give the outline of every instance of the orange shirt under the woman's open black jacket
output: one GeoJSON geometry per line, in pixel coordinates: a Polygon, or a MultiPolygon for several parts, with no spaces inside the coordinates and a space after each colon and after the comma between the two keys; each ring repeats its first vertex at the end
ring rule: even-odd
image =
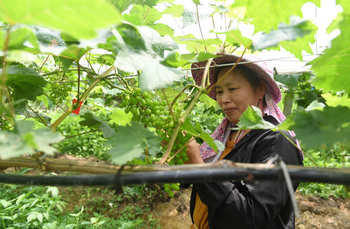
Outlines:
{"type": "MultiPolygon", "coordinates": [[[[230,137],[228,139],[231,139],[230,137]]],[[[220,160],[222,160],[234,147],[235,142],[227,140],[227,144],[225,147],[224,152],[222,153],[220,160]]],[[[194,212],[193,212],[193,221],[194,225],[192,224],[190,229],[209,229],[209,221],[208,221],[208,207],[204,203],[202,203],[200,197],[196,196],[196,201],[195,201],[195,207],[194,207],[194,212]]]]}

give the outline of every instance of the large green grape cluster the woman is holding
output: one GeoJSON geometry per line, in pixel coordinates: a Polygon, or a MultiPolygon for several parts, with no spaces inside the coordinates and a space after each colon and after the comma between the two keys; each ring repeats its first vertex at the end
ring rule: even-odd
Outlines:
{"type": "MultiPolygon", "coordinates": [[[[156,128],[156,133],[160,136],[166,144],[174,133],[175,124],[181,115],[182,108],[178,102],[174,103],[171,110],[166,100],[154,99],[151,92],[141,92],[140,88],[124,90],[122,95],[123,102],[120,103],[120,108],[125,108],[125,113],[132,113],[132,121],[140,121],[146,126],[156,128]]],[[[192,138],[192,135],[178,133],[175,144],[172,148],[171,158],[169,164],[184,164],[188,161],[187,145],[186,143],[192,138]]]]}

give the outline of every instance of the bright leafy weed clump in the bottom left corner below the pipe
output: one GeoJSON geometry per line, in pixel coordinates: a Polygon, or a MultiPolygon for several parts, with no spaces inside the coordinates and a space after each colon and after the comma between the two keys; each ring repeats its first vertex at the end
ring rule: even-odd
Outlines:
{"type": "Polygon", "coordinates": [[[17,185],[0,186],[0,217],[3,228],[62,228],[73,219],[62,216],[67,203],[61,200],[56,187],[24,188],[17,193],[17,185]],[[45,192],[46,190],[46,192],[45,192]]]}

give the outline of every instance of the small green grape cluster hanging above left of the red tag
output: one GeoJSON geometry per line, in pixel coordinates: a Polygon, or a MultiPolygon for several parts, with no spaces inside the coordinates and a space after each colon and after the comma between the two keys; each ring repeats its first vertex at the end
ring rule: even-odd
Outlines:
{"type": "Polygon", "coordinates": [[[70,92],[73,87],[73,82],[65,82],[67,81],[67,78],[60,78],[54,75],[50,75],[48,77],[48,80],[49,82],[55,82],[49,84],[49,99],[53,102],[53,105],[56,105],[57,103],[62,103],[70,95],[70,92]]]}

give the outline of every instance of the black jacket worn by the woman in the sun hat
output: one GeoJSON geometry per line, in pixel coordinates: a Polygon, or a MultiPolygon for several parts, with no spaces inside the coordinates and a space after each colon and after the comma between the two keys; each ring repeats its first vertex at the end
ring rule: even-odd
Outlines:
{"type": "MultiPolygon", "coordinates": [[[[273,116],[266,121],[277,125],[273,116]]],[[[289,136],[286,131],[284,133],[289,136]]],[[[249,131],[224,158],[240,163],[265,163],[280,155],[286,164],[302,164],[302,156],[280,131],[249,131]]],[[[298,183],[294,182],[297,190],[298,183]]],[[[195,183],[190,212],[193,221],[195,196],[208,206],[210,229],[294,229],[295,216],[285,182],[253,180],[195,183]]]]}

